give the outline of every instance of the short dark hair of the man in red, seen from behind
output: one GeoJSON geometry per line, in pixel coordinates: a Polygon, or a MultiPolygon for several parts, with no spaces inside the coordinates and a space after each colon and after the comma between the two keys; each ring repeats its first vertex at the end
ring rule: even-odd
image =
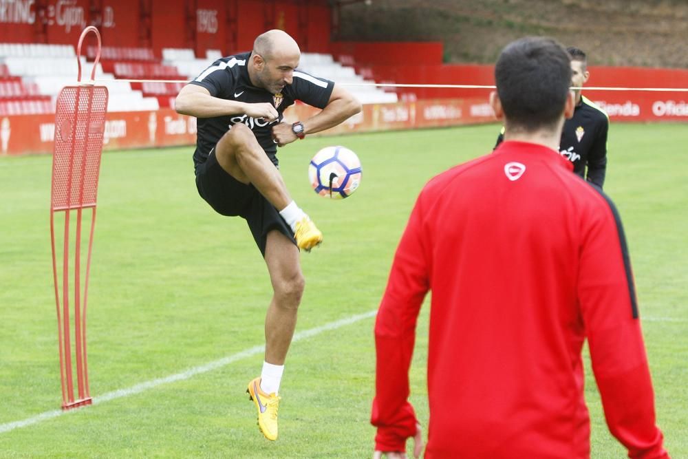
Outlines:
{"type": "Polygon", "coordinates": [[[509,127],[555,127],[571,85],[571,59],[553,39],[519,39],[499,54],[495,81],[509,127]]]}

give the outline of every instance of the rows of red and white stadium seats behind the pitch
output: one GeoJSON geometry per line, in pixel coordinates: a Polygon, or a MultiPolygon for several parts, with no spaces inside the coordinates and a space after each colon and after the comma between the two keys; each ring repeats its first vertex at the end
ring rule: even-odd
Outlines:
{"type": "MultiPolygon", "coordinates": [[[[110,111],[154,110],[173,107],[174,98],[185,83],[155,82],[129,83],[107,81],[115,78],[132,80],[177,80],[195,78],[206,67],[223,56],[220,50],[206,50],[204,58],[186,48],[164,48],[162,59],[156,58],[147,47],[105,46],[101,49],[96,67],[99,85],[110,93],[110,111]],[[107,73],[106,73],[107,72],[107,73]]],[[[76,84],[77,65],[72,45],[43,43],[0,43],[0,101],[4,114],[39,114],[54,112],[54,100],[67,85],[76,84]]],[[[81,58],[82,78],[90,77],[96,47],[87,46],[81,58]]],[[[353,59],[351,59],[353,61],[353,59]]],[[[361,103],[396,102],[395,92],[385,92],[374,86],[370,75],[356,74],[353,62],[336,62],[331,54],[301,54],[299,70],[346,84],[361,103]]]]}

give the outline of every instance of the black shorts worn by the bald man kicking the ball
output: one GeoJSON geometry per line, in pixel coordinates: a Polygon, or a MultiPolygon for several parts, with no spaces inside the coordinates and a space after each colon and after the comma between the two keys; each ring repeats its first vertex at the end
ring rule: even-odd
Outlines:
{"type": "Polygon", "coordinates": [[[201,198],[220,215],[243,217],[248,223],[258,248],[265,257],[268,232],[277,230],[296,244],[294,233],[266,198],[252,184],[233,178],[211,150],[206,162],[196,165],[196,188],[201,198]]]}

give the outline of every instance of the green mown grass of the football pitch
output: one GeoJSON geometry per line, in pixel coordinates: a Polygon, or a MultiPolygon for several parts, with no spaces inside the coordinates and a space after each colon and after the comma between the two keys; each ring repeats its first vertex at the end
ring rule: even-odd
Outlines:
{"type": "MultiPolygon", "coordinates": [[[[325,242],[301,255],[306,291],[297,332],[312,333],[290,349],[277,442],[259,433],[244,394],[262,362],[255,347],[264,342],[267,270],[244,222],[216,215],[198,197],[193,149],[104,154],[88,303],[89,379],[98,403],[57,416],[52,158],[0,157],[0,456],[369,457],[371,313],[401,231],[422,185],[490,151],[498,131],[308,138],[281,150],[290,191],[325,242]],[[352,198],[330,201],[310,189],[307,164],[321,147],[338,144],[358,153],[363,181],[352,198]],[[215,369],[189,372],[224,358],[215,369]],[[182,377],[158,381],[175,374],[182,377]],[[131,389],[150,381],[158,383],[131,389]],[[31,425],[10,424],[39,415],[31,425]]],[[[612,123],[605,184],[625,225],[658,423],[674,458],[688,457],[686,145],[686,125],[612,123]]],[[[411,368],[411,401],[424,425],[427,313],[426,305],[411,368]]],[[[592,456],[625,457],[607,431],[589,371],[586,377],[592,456]]]]}

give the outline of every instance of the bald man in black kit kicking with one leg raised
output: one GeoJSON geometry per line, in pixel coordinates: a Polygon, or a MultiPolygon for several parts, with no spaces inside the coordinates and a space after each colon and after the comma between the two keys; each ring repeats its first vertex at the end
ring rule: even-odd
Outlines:
{"type": "Polygon", "coordinates": [[[248,392],[269,440],[277,439],[279,384],[303,293],[299,248],[310,250],[323,239],[290,198],[277,169],[277,147],[361,111],[358,100],[332,81],[296,70],[300,57],[291,36],[270,30],[251,52],[215,61],[175,101],[179,113],[198,118],[198,193],[217,213],[246,220],[268,266],[274,295],[265,321],[265,362],[248,392]],[[323,110],[293,125],[282,122],[296,100],[323,110]]]}

